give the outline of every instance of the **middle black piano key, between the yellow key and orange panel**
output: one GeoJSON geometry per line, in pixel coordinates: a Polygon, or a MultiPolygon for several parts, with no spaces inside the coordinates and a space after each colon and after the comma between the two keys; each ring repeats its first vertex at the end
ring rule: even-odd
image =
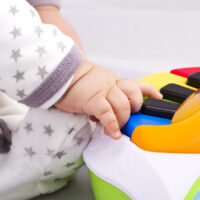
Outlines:
{"type": "Polygon", "coordinates": [[[195,92],[190,88],[186,88],[174,83],[170,83],[160,89],[163,99],[182,103],[188,96],[195,92]]]}

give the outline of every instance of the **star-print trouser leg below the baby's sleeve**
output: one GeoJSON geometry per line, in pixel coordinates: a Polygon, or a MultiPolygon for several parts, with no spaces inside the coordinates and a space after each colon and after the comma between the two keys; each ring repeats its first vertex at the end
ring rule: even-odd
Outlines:
{"type": "Polygon", "coordinates": [[[28,109],[0,92],[0,119],[12,132],[10,151],[0,154],[0,200],[54,192],[82,165],[92,133],[87,115],[28,109]]]}

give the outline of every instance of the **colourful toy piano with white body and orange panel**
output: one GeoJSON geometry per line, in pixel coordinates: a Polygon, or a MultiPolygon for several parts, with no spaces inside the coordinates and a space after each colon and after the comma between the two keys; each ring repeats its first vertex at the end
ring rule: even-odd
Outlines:
{"type": "Polygon", "coordinates": [[[146,99],[113,140],[101,126],[84,152],[96,200],[200,200],[200,67],[140,81],[163,99],[146,99]]]}

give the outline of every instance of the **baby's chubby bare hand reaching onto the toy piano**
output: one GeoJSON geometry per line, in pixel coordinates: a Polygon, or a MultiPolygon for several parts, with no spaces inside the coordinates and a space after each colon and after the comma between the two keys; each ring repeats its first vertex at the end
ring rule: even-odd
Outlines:
{"type": "Polygon", "coordinates": [[[76,71],[66,94],[55,104],[61,110],[86,113],[104,126],[104,132],[114,139],[131,112],[140,110],[143,95],[161,98],[151,85],[119,79],[109,70],[84,61],[76,71]]]}

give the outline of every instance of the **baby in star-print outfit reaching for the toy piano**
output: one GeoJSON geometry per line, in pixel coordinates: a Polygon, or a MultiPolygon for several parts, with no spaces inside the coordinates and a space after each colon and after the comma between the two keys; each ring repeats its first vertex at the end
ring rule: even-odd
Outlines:
{"type": "Polygon", "coordinates": [[[0,1],[0,200],[63,187],[82,164],[89,118],[118,139],[143,95],[161,97],[88,62],[58,8],[56,0],[0,1]]]}

